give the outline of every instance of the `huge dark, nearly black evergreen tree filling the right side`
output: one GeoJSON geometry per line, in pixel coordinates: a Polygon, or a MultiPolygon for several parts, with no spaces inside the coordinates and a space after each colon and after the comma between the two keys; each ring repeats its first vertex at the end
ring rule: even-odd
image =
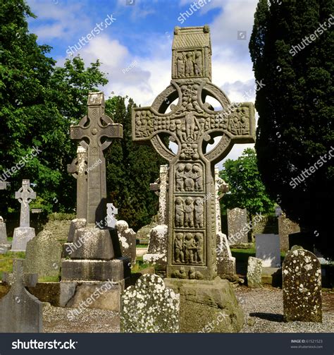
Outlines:
{"type": "Polygon", "coordinates": [[[260,0],[249,42],[256,80],[265,84],[256,94],[261,178],[332,257],[333,13],[333,0],[260,0]]]}

